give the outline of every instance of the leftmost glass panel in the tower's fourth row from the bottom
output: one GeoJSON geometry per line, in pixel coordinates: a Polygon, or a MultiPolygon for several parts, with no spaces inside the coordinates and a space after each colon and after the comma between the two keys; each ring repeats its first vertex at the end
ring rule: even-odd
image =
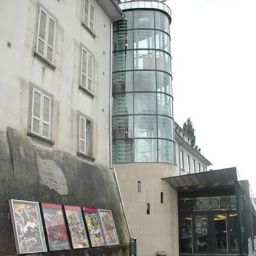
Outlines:
{"type": "Polygon", "coordinates": [[[133,72],[118,72],[113,74],[113,93],[133,91],[133,72]]]}

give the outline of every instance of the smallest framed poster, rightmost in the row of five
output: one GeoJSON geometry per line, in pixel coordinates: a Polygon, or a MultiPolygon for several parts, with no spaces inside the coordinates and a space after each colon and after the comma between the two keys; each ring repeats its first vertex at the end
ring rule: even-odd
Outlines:
{"type": "Polygon", "coordinates": [[[112,211],[99,209],[99,216],[107,245],[119,244],[112,211]]]}

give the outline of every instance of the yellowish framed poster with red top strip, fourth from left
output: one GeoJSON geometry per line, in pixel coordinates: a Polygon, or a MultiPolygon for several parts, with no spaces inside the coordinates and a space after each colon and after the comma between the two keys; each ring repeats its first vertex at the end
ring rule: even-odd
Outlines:
{"type": "Polygon", "coordinates": [[[83,207],[83,212],[92,247],[104,246],[105,242],[100,228],[98,210],[83,207]]]}

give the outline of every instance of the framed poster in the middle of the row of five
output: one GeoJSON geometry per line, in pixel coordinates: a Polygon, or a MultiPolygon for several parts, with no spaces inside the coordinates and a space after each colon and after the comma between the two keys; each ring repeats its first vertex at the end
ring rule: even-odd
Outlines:
{"type": "Polygon", "coordinates": [[[84,226],[81,207],[64,205],[64,209],[68,222],[68,230],[71,237],[72,248],[81,249],[90,247],[84,226]]]}

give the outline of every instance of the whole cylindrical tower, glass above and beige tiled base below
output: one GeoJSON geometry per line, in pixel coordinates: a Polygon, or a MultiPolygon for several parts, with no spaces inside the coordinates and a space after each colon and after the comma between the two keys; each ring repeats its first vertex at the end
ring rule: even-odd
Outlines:
{"type": "Polygon", "coordinates": [[[160,1],[121,1],[113,28],[113,166],[138,255],[178,255],[172,108],[171,11],[160,1]]]}

